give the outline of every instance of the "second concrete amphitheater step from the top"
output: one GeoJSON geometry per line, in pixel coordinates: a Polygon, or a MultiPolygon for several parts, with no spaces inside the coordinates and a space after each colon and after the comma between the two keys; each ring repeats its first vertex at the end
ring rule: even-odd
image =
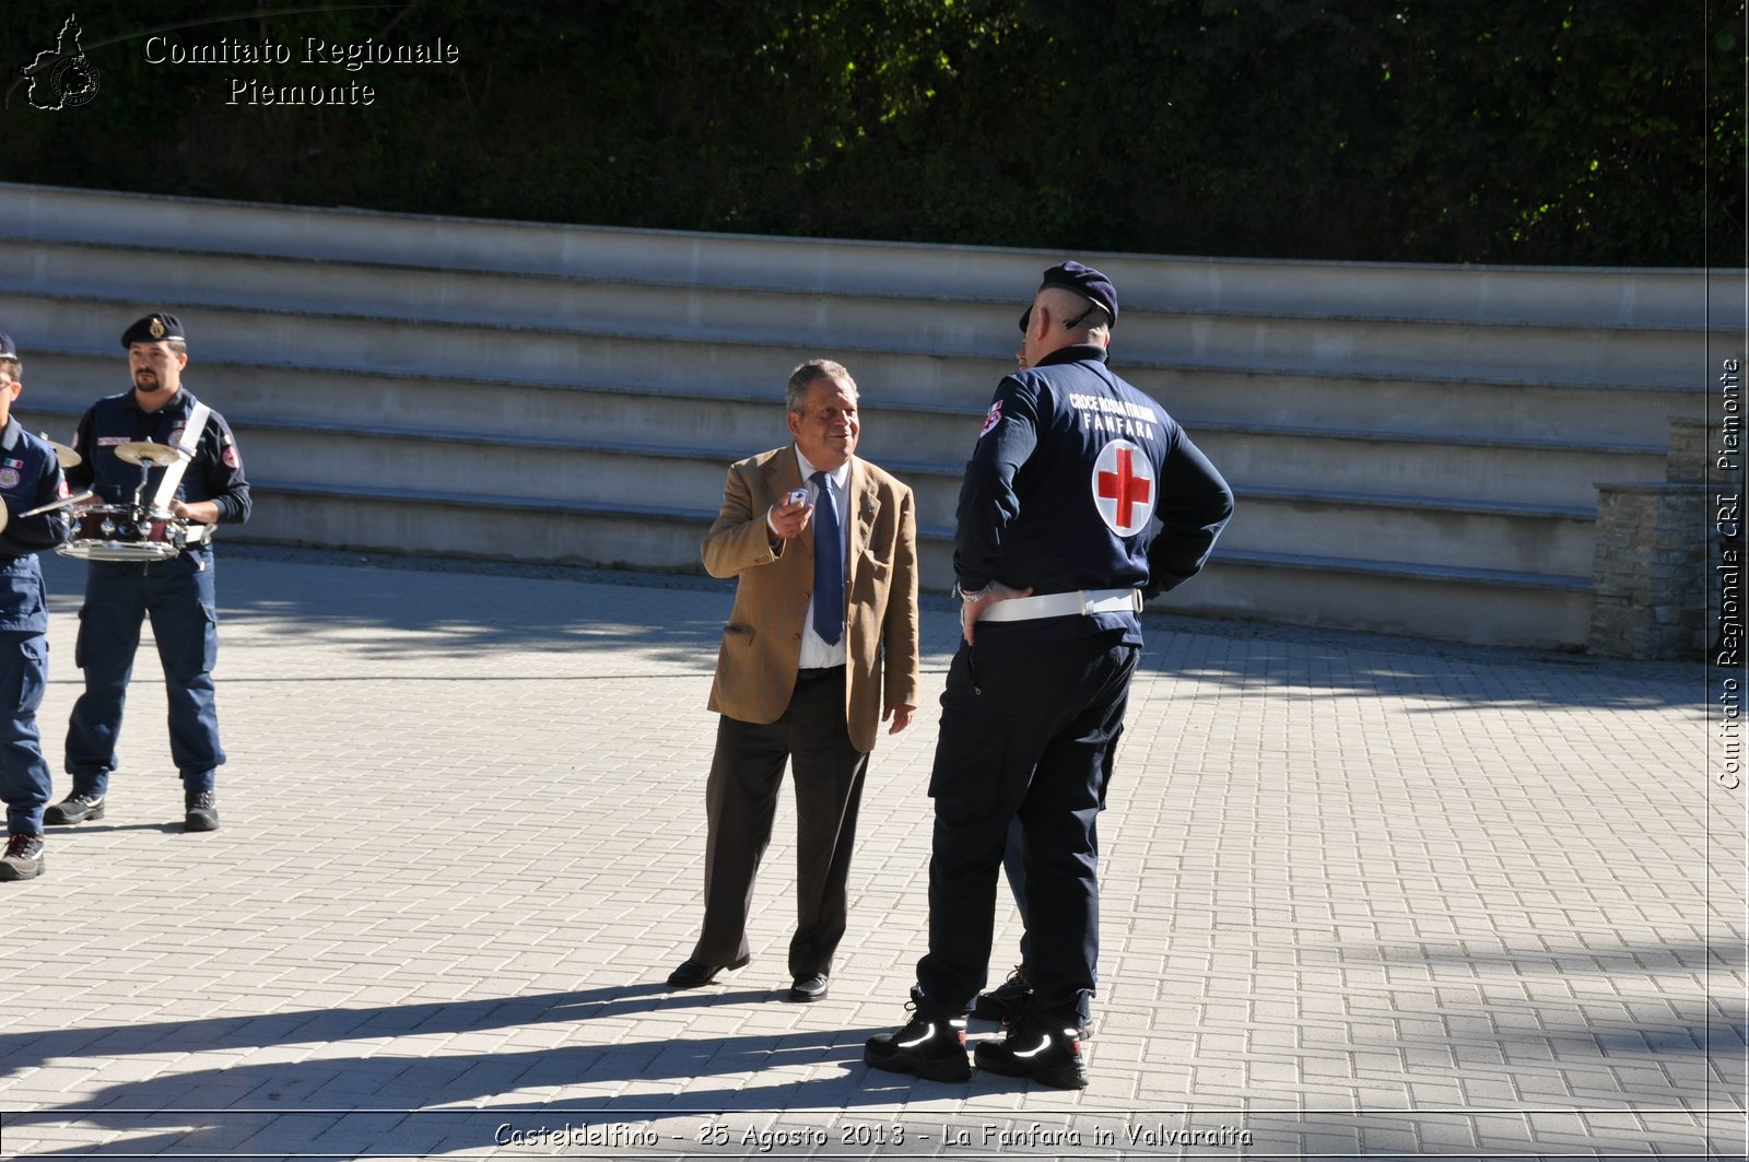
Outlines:
{"type": "MultiPolygon", "coordinates": [[[[422,324],[514,332],[582,331],[647,340],[784,334],[817,346],[990,355],[1013,326],[1011,303],[941,294],[761,290],[630,278],[497,275],[432,266],[147,250],[94,243],[0,245],[14,294],[133,298],[198,308],[255,308],[373,327],[422,324]]],[[[331,324],[334,326],[334,324],[331,324]]],[[[1132,308],[1123,350],[1210,366],[1434,374],[1453,366],[1495,378],[1607,376],[1658,385],[1693,343],[1693,327],[1550,326],[1338,312],[1256,313],[1132,308]]]]}

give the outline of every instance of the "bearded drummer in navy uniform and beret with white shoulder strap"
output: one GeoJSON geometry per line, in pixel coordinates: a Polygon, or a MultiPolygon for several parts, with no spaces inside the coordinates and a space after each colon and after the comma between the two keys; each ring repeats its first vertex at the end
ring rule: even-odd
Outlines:
{"type": "Polygon", "coordinates": [[[68,469],[66,480],[73,488],[96,492],[101,504],[126,504],[135,495],[150,497],[163,472],[175,467],[131,464],[115,455],[117,446],[147,439],[185,446],[191,460],[164,508],[189,522],[191,542],[168,560],[87,564],[77,646],[86,691],[66,726],[66,774],[73,788],[44,821],[103,817],[140,623],[150,616],[170,700],[170,756],[182,772],[184,830],[213,831],[224,747],[213,702],[219,612],[210,534],[213,525],[248,520],[248,481],[231,425],[182,387],[182,369],[189,364],[182,322],[164,312],[147,315],[122,332],[121,345],[128,348],[133,390],[105,396],[79,420],[73,448],[84,462],[68,469]],[[205,420],[198,434],[187,434],[196,413],[205,420]]]}

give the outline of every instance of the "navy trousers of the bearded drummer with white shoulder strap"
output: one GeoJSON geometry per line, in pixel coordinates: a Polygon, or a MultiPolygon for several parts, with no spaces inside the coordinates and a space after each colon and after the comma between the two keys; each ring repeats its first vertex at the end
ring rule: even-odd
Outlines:
{"type": "Polygon", "coordinates": [[[140,623],[152,620],[157,660],[170,702],[170,758],[187,791],[212,791],[224,763],[213,663],[219,612],[213,600],[212,550],[184,551],[166,562],[89,562],[86,606],[79,611],[75,663],[86,693],[66,724],[66,774],[73,793],[103,794],[115,770],[115,738],[140,623]]]}

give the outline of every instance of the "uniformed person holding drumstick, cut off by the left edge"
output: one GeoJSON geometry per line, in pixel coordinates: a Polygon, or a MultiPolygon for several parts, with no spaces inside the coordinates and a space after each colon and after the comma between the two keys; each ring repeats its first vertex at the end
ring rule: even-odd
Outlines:
{"type": "Polygon", "coordinates": [[[61,464],[47,441],[19,427],[12,404],[19,383],[17,348],[0,334],[0,802],[5,854],[0,880],[33,880],[42,854],[42,807],[49,802],[49,763],[37,737],[37,707],[49,679],[49,602],[37,550],[66,539],[54,513],[23,516],[66,495],[61,464]]]}

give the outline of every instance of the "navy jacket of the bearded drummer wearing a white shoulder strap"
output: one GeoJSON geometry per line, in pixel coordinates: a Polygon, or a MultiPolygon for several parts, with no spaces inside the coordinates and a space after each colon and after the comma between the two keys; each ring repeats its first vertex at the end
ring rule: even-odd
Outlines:
{"type": "MultiPolygon", "coordinates": [[[[79,427],[73,430],[73,450],[84,458],[66,469],[66,483],[75,492],[91,488],[105,504],[126,504],[133,500],[135,490],[145,481],[140,499],[150,502],[168,469],[129,464],[115,455],[115,448],[136,439],[150,439],[159,444],[178,443],[194,404],[196,399],[187,388],[178,390],[168,404],[150,413],[140,410],[131,390],[96,401],[79,418],[79,427]]],[[[187,504],[212,500],[219,506],[220,525],[241,525],[248,520],[250,500],[248,481],[243,478],[243,458],[238,455],[231,425],[217,411],[206,413],[206,429],[194,444],[194,458],[182,472],[177,497],[187,504]]]]}

